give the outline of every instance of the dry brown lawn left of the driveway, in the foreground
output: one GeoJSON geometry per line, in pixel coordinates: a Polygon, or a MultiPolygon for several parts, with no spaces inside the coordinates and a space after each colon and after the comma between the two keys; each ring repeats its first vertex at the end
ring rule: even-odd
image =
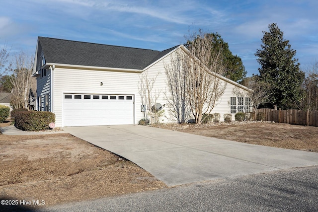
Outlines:
{"type": "Polygon", "coordinates": [[[166,187],[133,162],[70,134],[0,135],[0,149],[0,200],[50,206],[166,187]]]}

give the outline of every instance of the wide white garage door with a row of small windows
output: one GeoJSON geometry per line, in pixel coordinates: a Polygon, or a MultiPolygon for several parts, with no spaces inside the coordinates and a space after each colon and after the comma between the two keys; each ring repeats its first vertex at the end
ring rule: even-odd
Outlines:
{"type": "Polygon", "coordinates": [[[134,95],[63,95],[63,126],[134,124],[134,95]]]}

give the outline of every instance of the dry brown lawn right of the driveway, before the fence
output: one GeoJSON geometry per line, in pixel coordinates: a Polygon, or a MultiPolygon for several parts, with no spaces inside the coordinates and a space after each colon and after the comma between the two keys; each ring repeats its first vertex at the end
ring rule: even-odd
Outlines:
{"type": "Polygon", "coordinates": [[[218,139],[318,152],[318,127],[312,126],[251,122],[202,126],[160,124],[157,127],[218,139]]]}

